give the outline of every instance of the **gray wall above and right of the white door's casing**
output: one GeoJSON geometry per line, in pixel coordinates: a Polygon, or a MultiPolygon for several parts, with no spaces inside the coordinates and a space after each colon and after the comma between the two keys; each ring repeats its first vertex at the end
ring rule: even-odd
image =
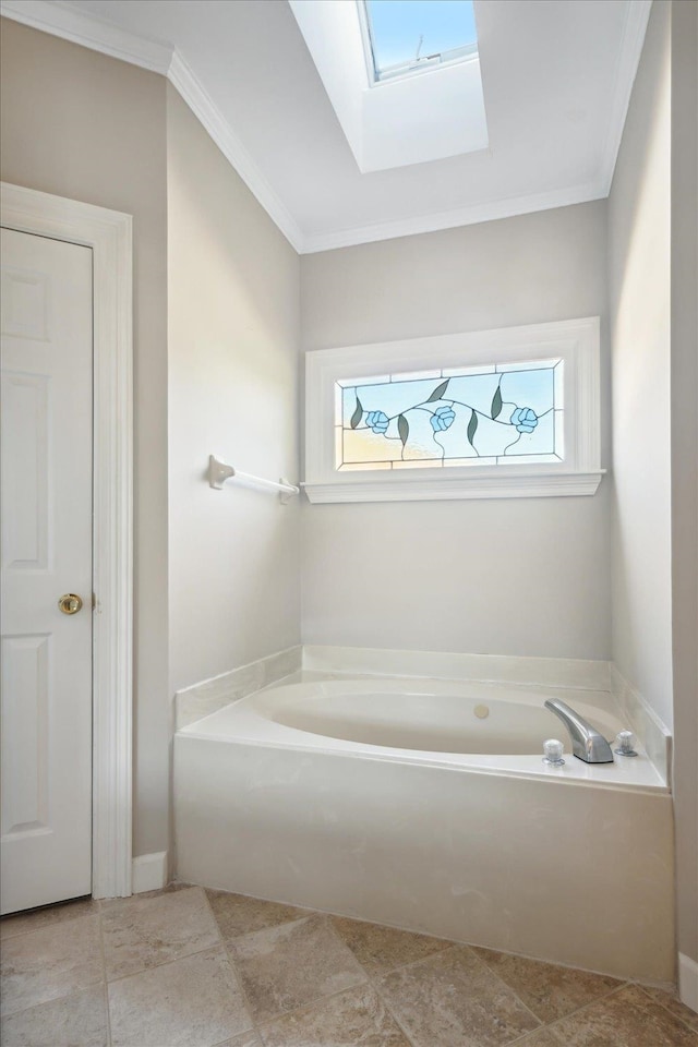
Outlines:
{"type": "Polygon", "coordinates": [[[168,846],[165,81],[2,22],[2,179],[133,215],[134,854],[168,846]]]}

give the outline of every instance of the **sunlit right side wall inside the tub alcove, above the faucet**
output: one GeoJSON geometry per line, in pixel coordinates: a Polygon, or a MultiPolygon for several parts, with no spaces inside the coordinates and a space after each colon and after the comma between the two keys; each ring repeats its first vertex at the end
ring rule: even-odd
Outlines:
{"type": "Polygon", "coordinates": [[[654,3],[609,202],[613,658],[672,724],[671,41],[654,3]]]}

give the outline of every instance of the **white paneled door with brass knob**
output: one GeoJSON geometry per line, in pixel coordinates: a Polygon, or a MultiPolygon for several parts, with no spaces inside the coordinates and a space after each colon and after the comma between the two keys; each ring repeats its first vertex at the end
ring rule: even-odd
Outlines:
{"type": "Polygon", "coordinates": [[[92,250],[3,229],[2,913],[92,891],[92,250]]]}

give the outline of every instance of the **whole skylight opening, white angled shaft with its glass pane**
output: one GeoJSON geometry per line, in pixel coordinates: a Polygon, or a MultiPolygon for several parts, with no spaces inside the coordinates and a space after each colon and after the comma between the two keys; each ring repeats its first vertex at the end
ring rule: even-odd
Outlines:
{"type": "Polygon", "coordinates": [[[362,174],[488,148],[472,0],[288,2],[362,174]]]}

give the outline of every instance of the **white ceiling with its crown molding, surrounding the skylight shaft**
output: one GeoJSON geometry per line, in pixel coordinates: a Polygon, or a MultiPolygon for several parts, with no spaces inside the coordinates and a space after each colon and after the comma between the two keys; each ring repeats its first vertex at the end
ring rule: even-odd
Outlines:
{"type": "Polygon", "coordinates": [[[606,196],[650,5],[476,0],[489,147],[368,173],[288,0],[2,0],[0,9],[167,75],[306,253],[606,196]]]}

